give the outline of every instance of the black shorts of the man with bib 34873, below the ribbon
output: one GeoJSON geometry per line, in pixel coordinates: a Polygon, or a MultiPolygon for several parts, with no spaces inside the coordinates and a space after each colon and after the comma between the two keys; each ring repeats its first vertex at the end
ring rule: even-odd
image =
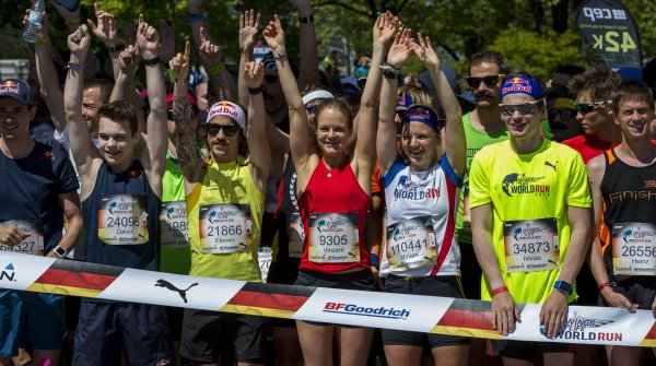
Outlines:
{"type": "Polygon", "coordinates": [[[508,340],[489,340],[490,356],[501,356],[535,362],[538,351],[541,353],[573,353],[574,344],[551,342],[527,342],[508,340]]]}

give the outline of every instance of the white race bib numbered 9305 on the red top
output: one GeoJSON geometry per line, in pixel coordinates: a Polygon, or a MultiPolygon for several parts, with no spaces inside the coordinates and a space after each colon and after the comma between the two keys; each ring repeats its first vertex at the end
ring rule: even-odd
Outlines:
{"type": "Polygon", "coordinates": [[[311,262],[360,262],[358,213],[316,213],[309,216],[308,226],[311,262]]]}

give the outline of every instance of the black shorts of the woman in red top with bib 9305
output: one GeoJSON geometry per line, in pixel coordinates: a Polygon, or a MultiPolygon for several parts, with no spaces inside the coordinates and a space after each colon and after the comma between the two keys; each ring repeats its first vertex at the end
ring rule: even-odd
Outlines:
{"type": "MultiPolygon", "coordinates": [[[[296,279],[295,285],[297,286],[313,286],[313,287],[328,287],[328,288],[341,288],[341,290],[355,290],[355,291],[375,291],[376,284],[374,281],[374,274],[372,271],[363,269],[362,271],[348,272],[348,273],[325,273],[309,270],[301,270],[298,278],[296,279]]],[[[305,320],[303,320],[305,321],[305,320]]],[[[309,324],[315,326],[327,326],[326,322],[319,321],[305,321],[309,324]]],[[[344,326],[345,328],[361,328],[355,326],[344,326]]]]}

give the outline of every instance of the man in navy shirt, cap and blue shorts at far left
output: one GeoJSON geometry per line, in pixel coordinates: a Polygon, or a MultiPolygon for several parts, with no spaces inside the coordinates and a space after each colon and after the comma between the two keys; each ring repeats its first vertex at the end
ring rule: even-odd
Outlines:
{"type": "MultiPolygon", "coordinates": [[[[0,252],[63,258],[82,232],[79,184],[62,150],[30,138],[32,98],[26,82],[0,82],[0,252]],[[58,205],[69,223],[63,236],[58,205]]],[[[7,261],[1,265],[10,275],[21,270],[7,261]]],[[[35,364],[59,364],[66,342],[62,296],[1,290],[0,315],[0,365],[17,354],[19,333],[28,337],[35,364]]]]}

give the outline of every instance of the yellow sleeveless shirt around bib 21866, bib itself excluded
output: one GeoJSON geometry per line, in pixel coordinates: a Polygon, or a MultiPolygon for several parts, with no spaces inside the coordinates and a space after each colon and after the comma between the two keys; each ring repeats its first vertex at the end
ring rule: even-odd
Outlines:
{"type": "MultiPolygon", "coordinates": [[[[208,161],[207,164],[201,174],[200,182],[187,196],[187,219],[189,222],[189,244],[191,246],[191,271],[189,274],[261,282],[257,248],[260,240],[262,213],[265,212],[265,196],[257,189],[248,165],[243,157],[226,164],[218,164],[213,161],[208,161]],[[248,239],[245,240],[246,251],[203,253],[201,227],[199,225],[201,206],[220,204],[243,205],[249,209],[250,234],[248,239]]],[[[230,234],[235,233],[231,232],[230,234]]]]}

